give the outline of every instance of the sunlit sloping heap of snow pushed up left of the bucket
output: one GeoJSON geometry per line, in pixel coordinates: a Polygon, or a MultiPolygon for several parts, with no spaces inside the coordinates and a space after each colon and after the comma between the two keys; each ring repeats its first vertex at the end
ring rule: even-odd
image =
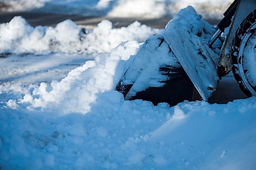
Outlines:
{"type": "MultiPolygon", "coordinates": [[[[139,48],[136,41],[122,43],[110,54],[87,61],[83,66],[71,70],[60,82],[53,81],[51,86],[41,83],[33,90],[32,95],[26,94],[18,103],[28,109],[57,108],[64,113],[90,111],[91,104],[97,100],[99,93],[115,88],[123,72],[130,63],[125,60],[135,55],[139,48]]],[[[110,99],[119,96],[116,91],[109,93],[110,99]]],[[[109,96],[106,96],[109,98],[109,96]]],[[[122,97],[123,98],[123,97],[122,97]]]]}

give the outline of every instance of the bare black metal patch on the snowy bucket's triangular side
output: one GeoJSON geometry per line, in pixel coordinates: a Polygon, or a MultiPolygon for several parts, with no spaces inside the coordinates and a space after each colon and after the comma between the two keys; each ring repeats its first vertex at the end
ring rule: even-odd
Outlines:
{"type": "Polygon", "coordinates": [[[163,82],[165,85],[137,92],[130,100],[142,99],[151,101],[154,105],[166,102],[170,106],[175,106],[184,100],[195,100],[194,85],[182,67],[164,66],[159,70],[169,78],[163,82]]]}

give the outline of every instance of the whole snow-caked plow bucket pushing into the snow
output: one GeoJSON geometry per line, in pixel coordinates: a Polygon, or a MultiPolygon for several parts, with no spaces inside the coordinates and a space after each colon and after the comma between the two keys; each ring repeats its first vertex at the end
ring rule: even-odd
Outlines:
{"type": "Polygon", "coordinates": [[[141,45],[116,90],[126,100],[142,99],[155,105],[207,101],[219,81],[220,49],[218,43],[214,47],[207,44],[214,32],[193,7],[181,10],[161,34],[141,45]]]}

